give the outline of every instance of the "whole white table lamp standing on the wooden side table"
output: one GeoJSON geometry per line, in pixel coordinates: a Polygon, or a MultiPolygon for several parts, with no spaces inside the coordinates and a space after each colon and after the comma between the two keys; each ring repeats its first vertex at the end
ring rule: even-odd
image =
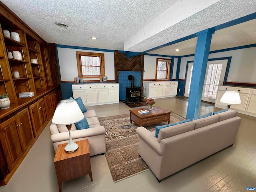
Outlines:
{"type": "Polygon", "coordinates": [[[84,114],[80,110],[76,101],[64,101],[58,103],[56,110],[54,112],[52,122],[55,124],[66,124],[69,132],[69,142],[65,146],[65,152],[73,153],[78,150],[78,144],[74,143],[71,138],[70,130],[72,123],[76,123],[84,118],[84,114]]]}

